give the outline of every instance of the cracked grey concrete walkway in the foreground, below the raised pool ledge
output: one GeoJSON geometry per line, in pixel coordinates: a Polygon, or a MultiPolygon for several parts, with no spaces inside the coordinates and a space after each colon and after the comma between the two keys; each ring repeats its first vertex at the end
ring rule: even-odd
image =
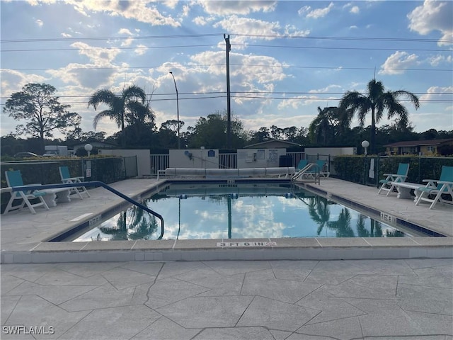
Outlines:
{"type": "Polygon", "coordinates": [[[1,339],[451,340],[452,282],[452,259],[2,265],[1,339]]]}

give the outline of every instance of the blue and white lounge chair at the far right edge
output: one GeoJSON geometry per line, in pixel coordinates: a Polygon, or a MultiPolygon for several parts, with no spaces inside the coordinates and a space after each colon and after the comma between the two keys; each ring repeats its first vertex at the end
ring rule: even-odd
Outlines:
{"type": "Polygon", "coordinates": [[[431,202],[430,209],[434,208],[437,202],[452,204],[451,200],[445,200],[442,195],[449,195],[453,200],[453,166],[442,166],[439,181],[424,179],[423,182],[427,182],[427,184],[418,188],[420,196],[418,196],[415,205],[418,205],[422,200],[431,202]],[[435,198],[429,198],[429,196],[435,196],[435,198]]]}

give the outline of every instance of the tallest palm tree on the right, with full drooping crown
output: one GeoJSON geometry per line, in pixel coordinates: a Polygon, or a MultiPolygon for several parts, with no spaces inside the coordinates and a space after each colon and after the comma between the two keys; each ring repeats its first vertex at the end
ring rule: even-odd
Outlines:
{"type": "Polygon", "coordinates": [[[399,102],[399,97],[407,97],[415,106],[415,110],[420,107],[418,97],[411,92],[399,91],[385,91],[384,85],[381,81],[372,79],[367,84],[367,93],[360,94],[357,91],[348,91],[345,93],[340,101],[340,112],[343,113],[343,119],[350,124],[352,117],[357,113],[360,120],[360,126],[363,127],[365,123],[365,116],[371,111],[371,130],[369,137],[370,152],[374,153],[376,150],[375,137],[376,137],[376,123],[382,119],[382,115],[387,110],[387,118],[392,118],[394,115],[398,118],[400,125],[408,125],[408,111],[405,106],[399,102]]]}

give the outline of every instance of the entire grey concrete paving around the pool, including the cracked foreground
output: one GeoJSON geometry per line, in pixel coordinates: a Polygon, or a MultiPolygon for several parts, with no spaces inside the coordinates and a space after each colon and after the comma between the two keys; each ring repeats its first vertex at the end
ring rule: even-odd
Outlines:
{"type": "MultiPolygon", "coordinates": [[[[113,186],[136,196],[154,184],[152,180],[130,180],[113,186]]],[[[71,220],[89,212],[96,215],[121,202],[96,188],[90,191],[91,198],[74,198],[49,211],[38,210],[36,215],[24,211],[1,216],[0,338],[452,340],[451,207],[428,210],[427,205],[414,205],[413,209],[410,200],[377,196],[376,188],[335,179],[321,181],[320,188],[353,196],[391,214],[398,212],[412,222],[429,222],[426,227],[450,237],[417,237],[417,243],[408,243],[414,241],[406,238],[362,239],[368,244],[360,246],[319,239],[318,247],[323,244],[320,249],[337,259],[345,254],[358,256],[357,249],[369,248],[381,256],[378,260],[144,261],[147,254],[162,254],[163,258],[165,254],[188,256],[190,251],[194,256],[242,254],[244,260],[251,250],[273,251],[273,256],[281,258],[300,256],[302,250],[320,250],[304,242],[290,244],[287,240],[285,245],[279,239],[281,248],[264,249],[268,251],[203,244],[203,250],[189,249],[198,244],[190,240],[180,249],[175,249],[172,240],[162,241],[173,242],[173,246],[160,250],[159,246],[143,249],[142,245],[134,251],[132,243],[129,250],[107,246],[118,242],[88,242],[105,244],[106,249],[86,249],[88,244],[84,249],[79,245],[71,248],[72,242],[53,242],[60,248],[46,249],[49,243],[42,240],[81,222],[71,220]],[[392,253],[398,248],[407,252],[392,253]],[[73,253],[81,256],[80,261],[68,255],[73,253]],[[127,253],[139,257],[127,261],[123,256],[127,253]],[[386,259],[395,254],[420,259],[386,259]],[[56,263],[30,263],[52,260],[56,263]]]]}

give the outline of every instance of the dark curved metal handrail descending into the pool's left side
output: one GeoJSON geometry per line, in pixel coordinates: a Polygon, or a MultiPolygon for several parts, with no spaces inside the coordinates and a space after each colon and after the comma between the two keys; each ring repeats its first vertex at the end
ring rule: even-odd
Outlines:
{"type": "Polygon", "coordinates": [[[115,193],[115,195],[120,196],[120,198],[123,198],[127,200],[127,202],[132,203],[133,205],[137,205],[137,207],[142,208],[143,210],[149,212],[151,215],[156,216],[161,220],[161,235],[159,236],[158,239],[162,239],[164,237],[164,218],[158,214],[157,212],[149,209],[145,205],[142,205],[141,203],[138,203],[136,200],[132,200],[132,198],[125,196],[124,193],[120,193],[120,191],[115,190],[111,186],[108,186],[104,182],[101,181],[93,181],[93,182],[79,182],[79,183],[58,183],[58,184],[42,184],[39,186],[33,185],[33,186],[13,186],[11,188],[12,192],[15,191],[30,191],[30,190],[45,190],[45,189],[57,189],[57,188],[79,188],[81,186],[102,186],[103,188],[107,189],[108,191],[115,193]]]}

